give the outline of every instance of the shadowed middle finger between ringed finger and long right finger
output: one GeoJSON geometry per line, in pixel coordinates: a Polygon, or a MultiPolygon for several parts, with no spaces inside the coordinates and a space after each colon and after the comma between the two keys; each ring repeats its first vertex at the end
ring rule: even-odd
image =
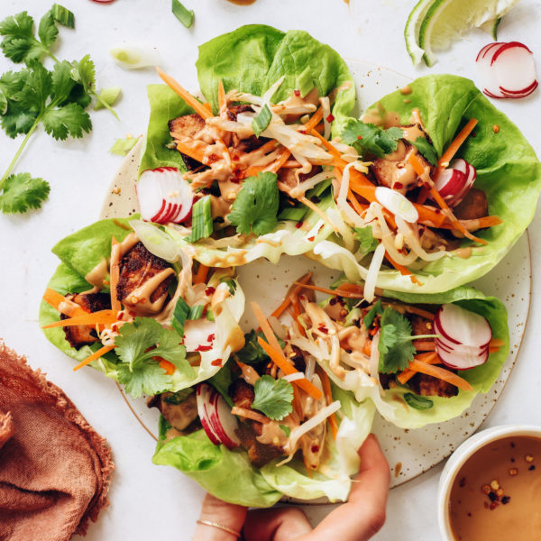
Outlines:
{"type": "Polygon", "coordinates": [[[245,541],[289,541],[312,531],[302,509],[277,508],[248,511],[245,541]]]}

